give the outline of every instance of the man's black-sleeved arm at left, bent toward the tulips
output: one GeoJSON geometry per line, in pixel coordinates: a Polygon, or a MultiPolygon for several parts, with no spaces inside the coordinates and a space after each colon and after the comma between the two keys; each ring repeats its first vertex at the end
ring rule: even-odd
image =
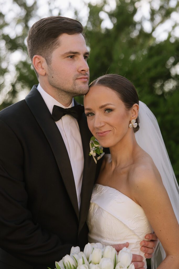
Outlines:
{"type": "MultiPolygon", "coordinates": [[[[34,224],[27,208],[24,152],[19,138],[0,121],[0,247],[39,269],[70,253],[72,245],[34,224]]],[[[48,218],[48,216],[47,216],[48,218]]]]}

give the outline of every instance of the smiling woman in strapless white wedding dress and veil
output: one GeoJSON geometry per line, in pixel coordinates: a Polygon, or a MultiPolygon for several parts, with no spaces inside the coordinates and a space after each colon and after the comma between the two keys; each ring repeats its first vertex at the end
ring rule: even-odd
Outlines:
{"type": "Polygon", "coordinates": [[[119,75],[94,80],[84,107],[90,131],[110,149],[90,202],[89,242],[127,241],[144,257],[140,242],[155,231],[160,242],[152,268],[178,269],[178,185],[154,115],[119,75]]]}

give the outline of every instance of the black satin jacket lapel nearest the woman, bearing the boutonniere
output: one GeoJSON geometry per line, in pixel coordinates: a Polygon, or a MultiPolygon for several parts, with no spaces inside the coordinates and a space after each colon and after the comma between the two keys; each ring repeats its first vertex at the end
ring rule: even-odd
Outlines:
{"type": "Polygon", "coordinates": [[[89,142],[92,134],[87,126],[86,116],[83,113],[82,118],[78,121],[79,129],[81,133],[81,139],[83,144],[83,154],[84,154],[84,169],[83,169],[83,180],[81,188],[81,206],[80,206],[80,223],[79,232],[83,227],[91,199],[91,194],[93,190],[95,174],[96,174],[96,163],[93,158],[89,156],[89,142]]]}

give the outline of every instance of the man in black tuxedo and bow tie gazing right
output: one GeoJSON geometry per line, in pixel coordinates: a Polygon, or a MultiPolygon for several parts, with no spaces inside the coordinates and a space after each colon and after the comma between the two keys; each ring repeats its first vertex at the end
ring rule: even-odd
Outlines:
{"type": "MultiPolygon", "coordinates": [[[[54,268],[72,246],[87,243],[102,159],[96,165],[89,157],[92,134],[73,99],[88,91],[82,31],[81,23],[60,16],[36,22],[27,44],[39,84],[0,112],[1,269],[54,268]]],[[[155,243],[145,244],[152,253],[155,243]]],[[[141,256],[134,259],[143,266],[141,256]]]]}

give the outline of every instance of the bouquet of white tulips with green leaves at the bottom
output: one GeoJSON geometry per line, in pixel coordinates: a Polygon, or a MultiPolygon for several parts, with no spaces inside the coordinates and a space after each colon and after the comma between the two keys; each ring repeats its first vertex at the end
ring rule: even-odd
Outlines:
{"type": "Polygon", "coordinates": [[[83,252],[79,247],[72,247],[70,255],[56,261],[55,266],[56,269],[134,269],[131,260],[132,253],[126,247],[117,255],[112,246],[88,243],[83,252]]]}

